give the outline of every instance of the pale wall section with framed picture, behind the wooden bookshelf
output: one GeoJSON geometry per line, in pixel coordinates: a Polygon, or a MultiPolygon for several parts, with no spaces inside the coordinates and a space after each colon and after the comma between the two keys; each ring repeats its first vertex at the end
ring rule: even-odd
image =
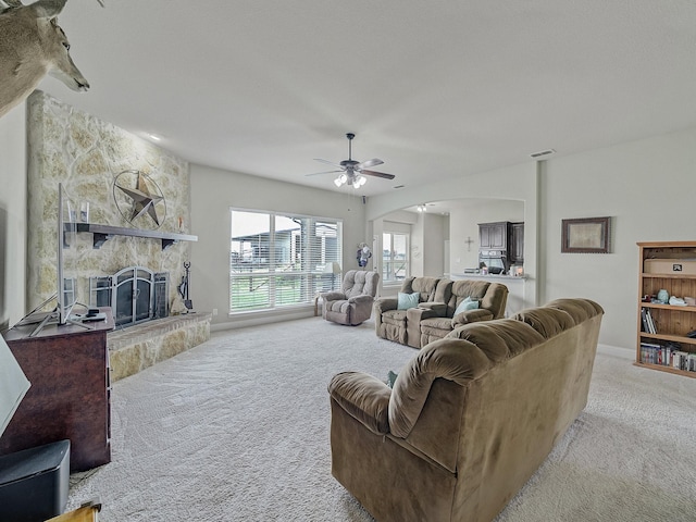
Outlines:
{"type": "Polygon", "coordinates": [[[601,340],[634,349],[636,243],[696,239],[696,128],[552,159],[540,177],[540,298],[597,300],[606,310],[601,340]],[[602,215],[612,216],[611,253],[561,253],[562,219],[602,215]]]}

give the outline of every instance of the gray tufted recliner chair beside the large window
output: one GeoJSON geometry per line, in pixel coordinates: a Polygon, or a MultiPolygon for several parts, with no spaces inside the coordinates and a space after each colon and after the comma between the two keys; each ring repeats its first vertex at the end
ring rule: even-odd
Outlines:
{"type": "Polygon", "coordinates": [[[349,270],[344,275],[340,290],[321,294],[322,316],[334,323],[357,326],[372,315],[372,303],[377,293],[380,274],[349,270]]]}

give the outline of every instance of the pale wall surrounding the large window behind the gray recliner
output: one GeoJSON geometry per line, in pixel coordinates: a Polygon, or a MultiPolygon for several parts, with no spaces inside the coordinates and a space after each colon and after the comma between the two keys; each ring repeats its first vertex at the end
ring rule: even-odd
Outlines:
{"type": "MultiPolygon", "coordinates": [[[[319,190],[301,185],[279,183],[258,176],[190,165],[191,229],[198,243],[191,251],[191,299],[197,310],[213,311],[211,327],[251,325],[274,318],[306,316],[308,307],[284,312],[241,313],[228,316],[229,310],[229,209],[293,212],[344,221],[345,271],[358,269],[356,251],[360,243],[370,244],[365,235],[364,203],[361,197],[337,190],[319,190]]],[[[370,269],[372,265],[368,265],[370,269]]]]}

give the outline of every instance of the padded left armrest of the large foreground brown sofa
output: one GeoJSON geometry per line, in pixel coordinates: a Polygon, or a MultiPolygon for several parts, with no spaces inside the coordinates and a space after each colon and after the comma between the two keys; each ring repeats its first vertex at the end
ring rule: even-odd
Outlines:
{"type": "Polygon", "coordinates": [[[372,433],[389,433],[391,388],[378,378],[360,372],[338,373],[328,384],[328,394],[372,433]]]}

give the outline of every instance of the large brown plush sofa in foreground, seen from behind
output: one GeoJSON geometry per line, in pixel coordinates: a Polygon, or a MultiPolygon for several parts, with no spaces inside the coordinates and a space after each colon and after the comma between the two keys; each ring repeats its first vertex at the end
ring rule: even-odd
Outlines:
{"type": "Polygon", "coordinates": [[[585,407],[602,313],[560,299],[460,326],[394,389],[335,375],[333,475],[380,522],[492,520],[585,407]]]}

